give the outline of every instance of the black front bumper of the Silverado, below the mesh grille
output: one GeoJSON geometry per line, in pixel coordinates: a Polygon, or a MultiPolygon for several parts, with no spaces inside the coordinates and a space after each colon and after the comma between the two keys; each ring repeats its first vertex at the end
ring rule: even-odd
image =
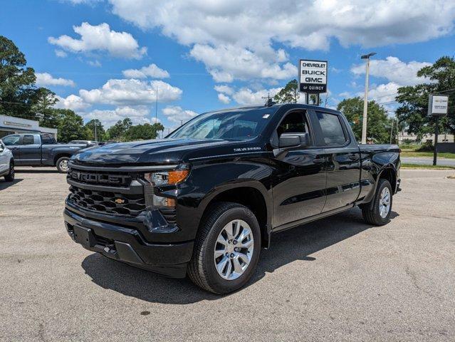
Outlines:
{"type": "Polygon", "coordinates": [[[100,222],[67,208],[63,212],[70,237],[85,249],[165,276],[183,278],[193,242],[151,243],[137,229],[100,222]]]}

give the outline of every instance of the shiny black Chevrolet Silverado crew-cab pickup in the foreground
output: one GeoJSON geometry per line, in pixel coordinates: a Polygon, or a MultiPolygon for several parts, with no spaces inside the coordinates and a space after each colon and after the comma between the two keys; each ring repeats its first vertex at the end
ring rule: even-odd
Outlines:
{"type": "Polygon", "coordinates": [[[216,294],[249,281],[274,232],[355,206],[386,224],[400,183],[397,145],[359,145],[340,112],[299,104],[204,113],[68,165],[75,242],[216,294]]]}

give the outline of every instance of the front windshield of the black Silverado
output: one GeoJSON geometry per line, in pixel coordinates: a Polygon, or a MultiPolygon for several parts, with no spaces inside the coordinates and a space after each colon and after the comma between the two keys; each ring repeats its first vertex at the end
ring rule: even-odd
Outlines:
{"type": "Polygon", "coordinates": [[[204,113],[185,123],[167,138],[248,140],[256,138],[276,108],[236,109],[204,113]]]}

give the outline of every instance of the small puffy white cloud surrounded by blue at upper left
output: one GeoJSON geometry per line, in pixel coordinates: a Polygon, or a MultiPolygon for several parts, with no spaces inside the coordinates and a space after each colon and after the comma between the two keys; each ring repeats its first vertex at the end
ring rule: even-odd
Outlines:
{"type": "Polygon", "coordinates": [[[105,23],[95,26],[82,23],[73,26],[73,30],[80,35],[80,39],[63,35],[58,38],[49,37],[48,42],[73,53],[108,51],[114,57],[136,59],[147,53],[147,48],[140,47],[130,33],[111,31],[105,23]]]}

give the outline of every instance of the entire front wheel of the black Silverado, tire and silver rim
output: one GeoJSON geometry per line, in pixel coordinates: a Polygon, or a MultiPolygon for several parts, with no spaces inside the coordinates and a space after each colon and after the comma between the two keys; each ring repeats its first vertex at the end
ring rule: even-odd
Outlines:
{"type": "Polygon", "coordinates": [[[236,291],[251,279],[261,249],[261,229],[253,212],[221,202],[209,209],[199,228],[188,274],[214,294],[236,291]]]}

